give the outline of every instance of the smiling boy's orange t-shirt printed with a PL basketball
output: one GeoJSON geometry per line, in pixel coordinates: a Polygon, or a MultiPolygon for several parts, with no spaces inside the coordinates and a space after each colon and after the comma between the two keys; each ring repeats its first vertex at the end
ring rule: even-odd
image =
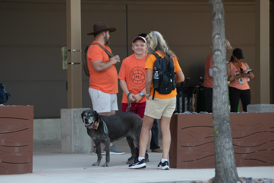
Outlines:
{"type": "MultiPolygon", "coordinates": [[[[147,70],[145,70],[145,55],[142,59],[135,58],[134,54],[125,58],[122,62],[118,78],[127,82],[127,88],[130,93],[138,94],[145,88],[145,78],[147,70]]],[[[145,102],[145,96],[138,103],[145,102]]],[[[128,103],[127,96],[123,92],[122,103],[128,103]]],[[[132,103],[136,103],[132,102],[132,103]]]]}

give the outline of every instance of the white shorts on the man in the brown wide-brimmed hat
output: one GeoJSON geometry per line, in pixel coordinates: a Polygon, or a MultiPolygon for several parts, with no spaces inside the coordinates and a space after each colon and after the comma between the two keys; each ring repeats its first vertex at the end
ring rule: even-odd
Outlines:
{"type": "Polygon", "coordinates": [[[104,93],[100,90],[89,88],[89,95],[92,101],[93,110],[97,113],[118,111],[116,93],[104,93]]]}

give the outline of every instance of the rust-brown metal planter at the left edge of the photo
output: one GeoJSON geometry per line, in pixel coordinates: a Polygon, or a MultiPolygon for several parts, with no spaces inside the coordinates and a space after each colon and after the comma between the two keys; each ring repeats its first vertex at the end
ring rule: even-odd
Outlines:
{"type": "Polygon", "coordinates": [[[0,107],[0,175],[32,173],[33,106],[0,107]]]}

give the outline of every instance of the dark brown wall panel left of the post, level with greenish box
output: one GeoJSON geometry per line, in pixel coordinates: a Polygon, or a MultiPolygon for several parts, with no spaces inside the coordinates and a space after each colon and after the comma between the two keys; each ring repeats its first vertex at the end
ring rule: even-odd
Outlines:
{"type": "Polygon", "coordinates": [[[0,57],[2,81],[67,81],[59,47],[4,47],[0,57]]]}

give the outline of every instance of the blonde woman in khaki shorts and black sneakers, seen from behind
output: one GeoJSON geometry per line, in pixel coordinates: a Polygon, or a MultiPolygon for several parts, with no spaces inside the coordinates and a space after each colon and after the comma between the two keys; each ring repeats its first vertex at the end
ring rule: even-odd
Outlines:
{"type": "MultiPolygon", "coordinates": [[[[175,110],[176,103],[176,88],[172,90],[170,94],[163,95],[155,91],[154,100],[152,100],[153,95],[153,68],[156,57],[153,53],[157,53],[162,58],[170,58],[175,66],[175,78],[177,82],[184,81],[184,74],[179,66],[177,57],[167,46],[163,36],[157,31],[150,31],[145,38],[148,44],[148,55],[146,60],[145,69],[147,70],[147,77],[145,80],[145,95],[146,95],[146,106],[144,119],[142,123],[142,130],[140,135],[140,147],[139,147],[139,157],[136,161],[129,165],[130,169],[145,168],[145,150],[147,149],[147,143],[149,141],[149,132],[152,128],[154,119],[160,119],[160,126],[162,131],[162,145],[163,145],[163,155],[162,159],[158,165],[158,169],[168,170],[169,163],[167,157],[170,148],[170,119],[175,110]]],[[[167,64],[169,59],[167,59],[167,64]]]]}

